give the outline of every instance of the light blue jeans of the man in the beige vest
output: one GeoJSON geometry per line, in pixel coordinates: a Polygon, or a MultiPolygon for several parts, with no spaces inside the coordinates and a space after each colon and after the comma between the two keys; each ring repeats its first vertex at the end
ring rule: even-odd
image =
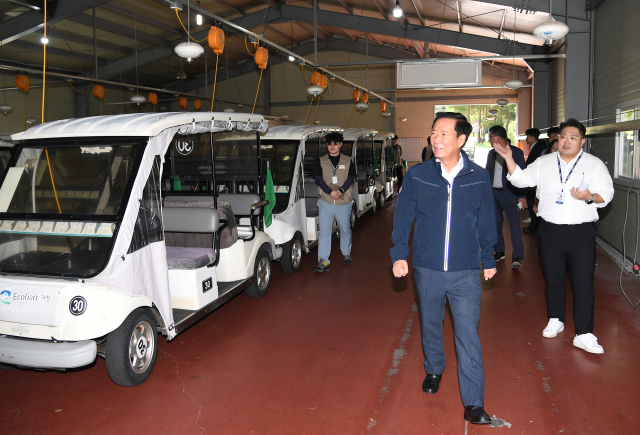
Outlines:
{"type": "Polygon", "coordinates": [[[351,254],[351,207],[352,204],[333,205],[318,200],[320,217],[320,238],[318,239],[318,261],[328,263],[331,255],[331,229],[335,219],[340,228],[340,251],[342,255],[351,254]]]}

